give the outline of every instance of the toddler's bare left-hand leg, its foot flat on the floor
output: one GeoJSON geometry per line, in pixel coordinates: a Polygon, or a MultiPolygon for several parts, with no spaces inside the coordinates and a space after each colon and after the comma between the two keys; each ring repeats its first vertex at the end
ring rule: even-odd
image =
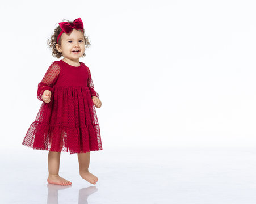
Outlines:
{"type": "Polygon", "coordinates": [[[60,169],[60,152],[49,151],[48,153],[48,183],[57,184],[57,185],[71,185],[72,182],[67,181],[66,179],[58,175],[60,169]]]}

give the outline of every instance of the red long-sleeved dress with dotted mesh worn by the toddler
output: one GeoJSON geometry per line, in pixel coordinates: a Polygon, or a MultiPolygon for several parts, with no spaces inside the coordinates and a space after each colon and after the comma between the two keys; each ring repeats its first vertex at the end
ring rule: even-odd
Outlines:
{"type": "Polygon", "coordinates": [[[72,66],[54,61],[38,84],[37,98],[43,103],[22,145],[70,154],[102,150],[92,96],[99,94],[83,62],[72,66]],[[49,103],[42,99],[45,90],[52,92],[49,103]]]}

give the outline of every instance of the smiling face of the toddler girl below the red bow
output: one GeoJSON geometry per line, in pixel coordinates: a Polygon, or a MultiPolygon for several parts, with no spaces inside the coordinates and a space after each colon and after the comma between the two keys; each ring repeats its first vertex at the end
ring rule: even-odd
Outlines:
{"type": "Polygon", "coordinates": [[[76,29],[73,29],[69,34],[62,33],[61,45],[56,44],[56,48],[58,52],[62,53],[63,58],[78,62],[79,58],[85,53],[83,33],[76,29]]]}

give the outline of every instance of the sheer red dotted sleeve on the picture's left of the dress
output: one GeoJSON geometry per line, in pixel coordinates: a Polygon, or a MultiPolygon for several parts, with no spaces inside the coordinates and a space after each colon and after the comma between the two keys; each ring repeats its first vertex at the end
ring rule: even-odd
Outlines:
{"type": "Polygon", "coordinates": [[[38,84],[37,88],[37,99],[43,100],[42,96],[45,90],[49,90],[52,92],[53,86],[56,83],[56,80],[58,79],[58,75],[60,74],[60,65],[58,65],[58,62],[53,62],[47,72],[44,75],[44,78],[42,81],[38,84]]]}

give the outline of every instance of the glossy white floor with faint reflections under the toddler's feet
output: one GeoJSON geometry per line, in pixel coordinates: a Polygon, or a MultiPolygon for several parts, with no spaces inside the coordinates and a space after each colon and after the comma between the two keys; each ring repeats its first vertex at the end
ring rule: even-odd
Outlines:
{"type": "Polygon", "coordinates": [[[79,176],[77,154],[61,154],[60,176],[72,186],[47,183],[48,151],[1,150],[0,203],[255,204],[256,150],[92,151],[79,176]]]}

